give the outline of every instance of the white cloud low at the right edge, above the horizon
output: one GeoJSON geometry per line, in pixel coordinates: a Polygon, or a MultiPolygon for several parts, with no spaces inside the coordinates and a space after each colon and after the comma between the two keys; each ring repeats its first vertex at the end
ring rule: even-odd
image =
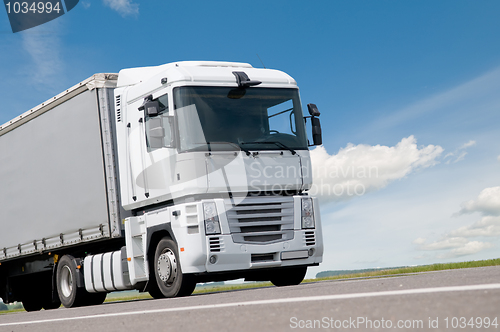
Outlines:
{"type": "Polygon", "coordinates": [[[418,238],[413,244],[416,244],[419,250],[449,250],[437,255],[437,258],[472,255],[491,248],[492,243],[471,241],[469,238],[500,237],[500,187],[485,188],[477,199],[465,202],[461,206],[461,210],[455,216],[478,212],[483,214],[483,217],[471,225],[452,230],[441,240],[426,243],[425,239],[418,238]]]}

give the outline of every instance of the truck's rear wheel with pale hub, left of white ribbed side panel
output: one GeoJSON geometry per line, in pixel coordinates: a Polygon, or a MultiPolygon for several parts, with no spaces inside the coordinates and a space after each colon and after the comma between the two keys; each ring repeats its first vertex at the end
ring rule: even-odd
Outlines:
{"type": "Polygon", "coordinates": [[[74,258],[69,255],[63,256],[57,264],[57,293],[66,308],[85,304],[87,291],[77,287],[76,273],[74,258]]]}

